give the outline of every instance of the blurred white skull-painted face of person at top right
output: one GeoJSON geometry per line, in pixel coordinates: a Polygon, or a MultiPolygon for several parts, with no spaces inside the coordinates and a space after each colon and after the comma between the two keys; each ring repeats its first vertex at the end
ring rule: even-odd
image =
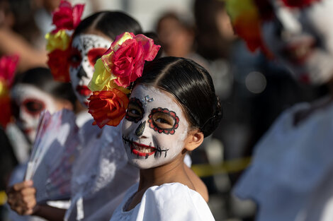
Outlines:
{"type": "Polygon", "coordinates": [[[322,84],[333,76],[333,1],[313,1],[306,8],[288,8],[271,0],[275,18],[262,27],[264,41],[304,83],[322,84]]]}

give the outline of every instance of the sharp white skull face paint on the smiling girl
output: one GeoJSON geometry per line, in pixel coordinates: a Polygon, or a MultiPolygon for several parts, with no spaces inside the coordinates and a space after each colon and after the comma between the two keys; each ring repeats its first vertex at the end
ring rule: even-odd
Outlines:
{"type": "Polygon", "coordinates": [[[123,122],[124,147],[132,165],[148,169],[171,162],[183,150],[187,132],[188,121],[171,95],[152,86],[135,86],[123,122]]]}

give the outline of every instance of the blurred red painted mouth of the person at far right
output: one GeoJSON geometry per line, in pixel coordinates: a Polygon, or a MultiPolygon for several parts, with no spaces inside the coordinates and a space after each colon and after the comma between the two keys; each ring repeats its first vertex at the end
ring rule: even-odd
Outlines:
{"type": "Polygon", "coordinates": [[[281,53],[291,64],[302,65],[313,54],[315,43],[313,38],[295,41],[283,47],[281,53]]]}

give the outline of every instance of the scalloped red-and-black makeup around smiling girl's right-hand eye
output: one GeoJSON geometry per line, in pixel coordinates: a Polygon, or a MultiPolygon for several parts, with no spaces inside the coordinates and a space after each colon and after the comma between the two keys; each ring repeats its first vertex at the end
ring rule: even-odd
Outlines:
{"type": "Polygon", "coordinates": [[[172,135],[179,126],[179,117],[167,108],[158,107],[152,109],[148,123],[154,131],[172,135]]]}

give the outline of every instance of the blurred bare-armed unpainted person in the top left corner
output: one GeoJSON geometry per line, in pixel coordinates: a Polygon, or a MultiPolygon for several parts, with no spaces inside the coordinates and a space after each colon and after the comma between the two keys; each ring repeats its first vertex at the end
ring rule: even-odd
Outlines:
{"type": "MultiPolygon", "coordinates": [[[[18,72],[46,66],[44,33],[35,19],[33,0],[0,1],[0,54],[18,54],[18,72]]],[[[49,23],[51,25],[51,23],[49,23]]]]}

